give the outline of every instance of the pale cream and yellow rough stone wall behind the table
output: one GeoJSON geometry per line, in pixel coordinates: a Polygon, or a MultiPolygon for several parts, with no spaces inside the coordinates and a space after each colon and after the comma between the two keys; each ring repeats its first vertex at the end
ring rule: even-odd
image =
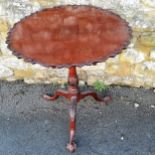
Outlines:
{"type": "Polygon", "coordinates": [[[42,8],[61,4],[89,4],[111,9],[133,29],[128,49],[104,63],[79,68],[81,81],[155,87],[155,0],[0,0],[0,79],[24,79],[27,83],[66,82],[66,69],[25,63],[13,56],[5,44],[7,32],[15,22],[42,8]]]}

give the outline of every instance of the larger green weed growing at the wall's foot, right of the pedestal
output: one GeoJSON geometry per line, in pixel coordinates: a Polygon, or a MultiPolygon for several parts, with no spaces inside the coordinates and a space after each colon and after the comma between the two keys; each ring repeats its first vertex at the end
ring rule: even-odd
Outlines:
{"type": "Polygon", "coordinates": [[[108,85],[98,80],[94,82],[93,87],[96,91],[99,91],[99,92],[107,91],[109,89],[108,85]]]}

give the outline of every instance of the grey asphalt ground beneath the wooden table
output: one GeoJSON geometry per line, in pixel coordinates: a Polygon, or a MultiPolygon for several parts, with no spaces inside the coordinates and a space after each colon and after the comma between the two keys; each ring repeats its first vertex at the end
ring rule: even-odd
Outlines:
{"type": "MultiPolygon", "coordinates": [[[[0,155],[68,155],[68,102],[41,98],[51,85],[0,82],[0,155]]],[[[113,101],[78,105],[75,155],[155,155],[155,93],[111,87],[113,101]]]]}

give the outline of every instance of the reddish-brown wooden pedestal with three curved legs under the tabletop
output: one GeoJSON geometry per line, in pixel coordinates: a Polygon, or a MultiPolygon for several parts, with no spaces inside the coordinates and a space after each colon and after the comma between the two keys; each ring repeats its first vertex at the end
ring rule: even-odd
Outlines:
{"type": "Polygon", "coordinates": [[[108,102],[111,100],[111,96],[105,96],[100,97],[96,92],[94,91],[85,91],[80,92],[78,88],[78,76],[76,73],[76,68],[71,67],[69,69],[69,76],[68,76],[68,90],[57,90],[54,95],[46,94],[43,97],[47,100],[54,101],[58,99],[60,96],[65,97],[66,99],[69,99],[70,101],[70,107],[69,107],[69,115],[70,115],[70,138],[69,143],[67,144],[67,150],[69,152],[74,152],[77,148],[75,144],[75,129],[76,129],[76,109],[77,109],[77,103],[84,99],[87,96],[93,97],[96,101],[99,101],[102,104],[107,105],[108,102]]]}

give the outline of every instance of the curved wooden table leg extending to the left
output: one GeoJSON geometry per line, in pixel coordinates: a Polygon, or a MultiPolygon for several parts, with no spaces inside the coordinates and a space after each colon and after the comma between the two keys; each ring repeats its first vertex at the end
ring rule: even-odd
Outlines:
{"type": "Polygon", "coordinates": [[[69,94],[67,91],[64,90],[57,90],[54,95],[52,94],[45,94],[43,95],[43,98],[46,100],[50,100],[50,101],[54,101],[56,99],[58,99],[60,96],[63,96],[65,98],[69,98],[69,94]]]}

